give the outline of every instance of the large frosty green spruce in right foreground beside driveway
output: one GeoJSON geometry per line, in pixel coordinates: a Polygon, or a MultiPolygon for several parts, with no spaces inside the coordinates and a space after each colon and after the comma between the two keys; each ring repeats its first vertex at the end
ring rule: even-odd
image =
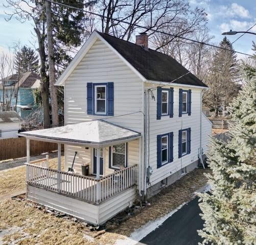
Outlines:
{"type": "Polygon", "coordinates": [[[247,78],[229,107],[231,140],[212,139],[210,145],[208,162],[213,174],[208,179],[212,190],[211,194],[199,194],[202,244],[256,244],[255,67],[247,78]]]}

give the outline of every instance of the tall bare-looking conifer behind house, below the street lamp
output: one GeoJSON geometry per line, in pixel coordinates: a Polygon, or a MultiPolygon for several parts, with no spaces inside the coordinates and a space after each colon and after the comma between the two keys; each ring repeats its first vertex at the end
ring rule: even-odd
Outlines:
{"type": "Polygon", "coordinates": [[[210,71],[206,78],[206,84],[210,87],[205,91],[203,103],[215,110],[218,115],[220,106],[227,106],[238,93],[238,81],[240,79],[237,55],[230,41],[224,37],[220,46],[227,50],[217,50],[210,71]]]}

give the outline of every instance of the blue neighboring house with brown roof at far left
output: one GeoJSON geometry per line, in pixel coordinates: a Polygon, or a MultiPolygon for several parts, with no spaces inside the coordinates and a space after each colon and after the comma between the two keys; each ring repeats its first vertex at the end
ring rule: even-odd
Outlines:
{"type": "MultiPolygon", "coordinates": [[[[40,87],[40,76],[34,72],[26,72],[20,76],[12,75],[4,79],[5,81],[5,96],[7,101],[11,101],[11,110],[15,110],[17,98],[17,113],[26,118],[33,110],[34,96],[33,90],[40,87]]],[[[3,101],[3,84],[0,81],[0,102],[3,101]]],[[[0,103],[0,111],[3,110],[0,103]]]]}

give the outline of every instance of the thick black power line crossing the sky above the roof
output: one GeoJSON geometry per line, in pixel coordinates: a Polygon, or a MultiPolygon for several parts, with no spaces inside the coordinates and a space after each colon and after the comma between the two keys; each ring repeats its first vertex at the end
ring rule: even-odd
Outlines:
{"type": "Polygon", "coordinates": [[[172,36],[172,37],[181,38],[181,39],[184,39],[184,40],[187,40],[187,41],[192,41],[192,42],[196,42],[196,43],[203,44],[203,45],[207,45],[207,46],[212,46],[212,47],[216,47],[216,48],[221,48],[222,50],[226,50],[226,51],[230,51],[230,52],[235,52],[235,53],[242,54],[242,55],[252,56],[252,55],[249,55],[249,54],[246,54],[246,53],[243,53],[243,52],[234,51],[234,50],[229,50],[228,48],[216,46],[216,45],[214,45],[214,44],[205,43],[205,42],[197,41],[197,40],[190,39],[190,38],[187,38],[187,37],[182,37],[182,36],[178,36],[178,35],[175,35],[175,34],[166,33],[166,32],[163,32],[163,31],[159,31],[159,30],[155,30],[155,29],[152,29],[152,28],[144,27],[144,26],[141,26],[141,25],[139,25],[139,24],[130,23],[130,22],[125,21],[125,20],[120,20],[120,19],[117,19],[117,18],[108,17],[108,16],[105,16],[105,15],[102,15],[102,14],[97,14],[97,13],[94,13],[94,12],[91,12],[91,11],[88,11],[88,10],[84,10],[84,9],[80,9],[80,8],[77,8],[77,7],[73,7],[73,6],[70,6],[70,5],[61,4],[61,3],[56,3],[56,2],[51,1],[51,0],[44,0],[44,1],[49,2],[49,3],[52,3],[52,4],[64,6],[64,7],[66,7],[66,8],[76,9],[76,10],[85,12],[85,13],[87,13],[87,14],[96,15],[96,16],[103,17],[103,18],[107,18],[107,19],[111,19],[111,20],[114,20],[114,21],[119,21],[119,22],[122,22],[122,23],[125,23],[125,24],[129,24],[129,25],[134,26],[134,27],[146,29],[147,31],[154,31],[154,32],[161,33],[161,34],[165,34],[165,35],[169,35],[169,36],[172,36]]]}

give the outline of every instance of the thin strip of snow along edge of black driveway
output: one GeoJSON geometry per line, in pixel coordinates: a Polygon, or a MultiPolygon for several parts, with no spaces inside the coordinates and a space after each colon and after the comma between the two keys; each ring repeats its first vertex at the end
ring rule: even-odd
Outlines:
{"type": "MultiPolygon", "coordinates": [[[[203,186],[202,188],[198,189],[196,192],[207,192],[211,190],[211,186],[209,184],[203,186]]],[[[194,192],[194,195],[196,197],[196,192],[194,192]]],[[[135,245],[143,239],[145,236],[147,236],[149,233],[154,231],[156,228],[162,225],[162,223],[165,222],[166,219],[171,217],[175,212],[177,212],[179,209],[181,209],[185,204],[189,202],[182,203],[180,206],[178,206],[176,209],[171,211],[170,213],[166,214],[165,216],[162,216],[160,218],[157,218],[154,221],[148,222],[146,225],[142,226],[138,230],[132,232],[130,237],[127,237],[126,239],[119,239],[117,240],[114,245],[135,245]]],[[[142,243],[139,243],[142,244],[142,243]]]]}

